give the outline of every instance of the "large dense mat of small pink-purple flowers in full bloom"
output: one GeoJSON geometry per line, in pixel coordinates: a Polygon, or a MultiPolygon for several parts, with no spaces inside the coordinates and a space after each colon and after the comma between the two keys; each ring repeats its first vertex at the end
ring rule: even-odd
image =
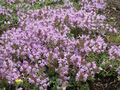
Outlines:
{"type": "MultiPolygon", "coordinates": [[[[97,60],[89,59],[91,53],[107,53],[109,61],[120,63],[120,46],[109,46],[104,38],[106,33],[117,35],[118,31],[104,23],[105,16],[95,12],[105,9],[104,3],[82,0],[80,10],[72,3],[55,9],[45,6],[28,10],[19,18],[18,28],[7,30],[0,37],[0,77],[9,84],[18,81],[35,85],[36,90],[46,90],[53,77],[61,87],[69,86],[71,78],[75,82],[94,79],[104,68],[97,60]]],[[[119,76],[120,66],[115,70],[119,76]]],[[[20,86],[19,90],[25,88],[20,86]]]]}

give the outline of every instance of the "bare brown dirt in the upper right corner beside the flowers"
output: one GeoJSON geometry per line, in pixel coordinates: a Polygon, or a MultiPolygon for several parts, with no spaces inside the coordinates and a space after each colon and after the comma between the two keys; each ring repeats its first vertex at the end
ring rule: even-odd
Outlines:
{"type": "Polygon", "coordinates": [[[107,0],[107,7],[102,14],[106,16],[106,23],[120,32],[120,0],[107,0]]]}

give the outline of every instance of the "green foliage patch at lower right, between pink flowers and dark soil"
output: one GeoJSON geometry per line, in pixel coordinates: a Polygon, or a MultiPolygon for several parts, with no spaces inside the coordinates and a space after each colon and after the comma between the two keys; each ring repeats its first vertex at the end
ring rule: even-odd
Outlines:
{"type": "Polygon", "coordinates": [[[120,62],[118,60],[109,60],[107,53],[97,54],[97,53],[91,52],[89,53],[86,60],[90,62],[95,61],[97,66],[103,69],[100,72],[98,72],[102,76],[117,75],[116,68],[119,67],[120,62]]]}

